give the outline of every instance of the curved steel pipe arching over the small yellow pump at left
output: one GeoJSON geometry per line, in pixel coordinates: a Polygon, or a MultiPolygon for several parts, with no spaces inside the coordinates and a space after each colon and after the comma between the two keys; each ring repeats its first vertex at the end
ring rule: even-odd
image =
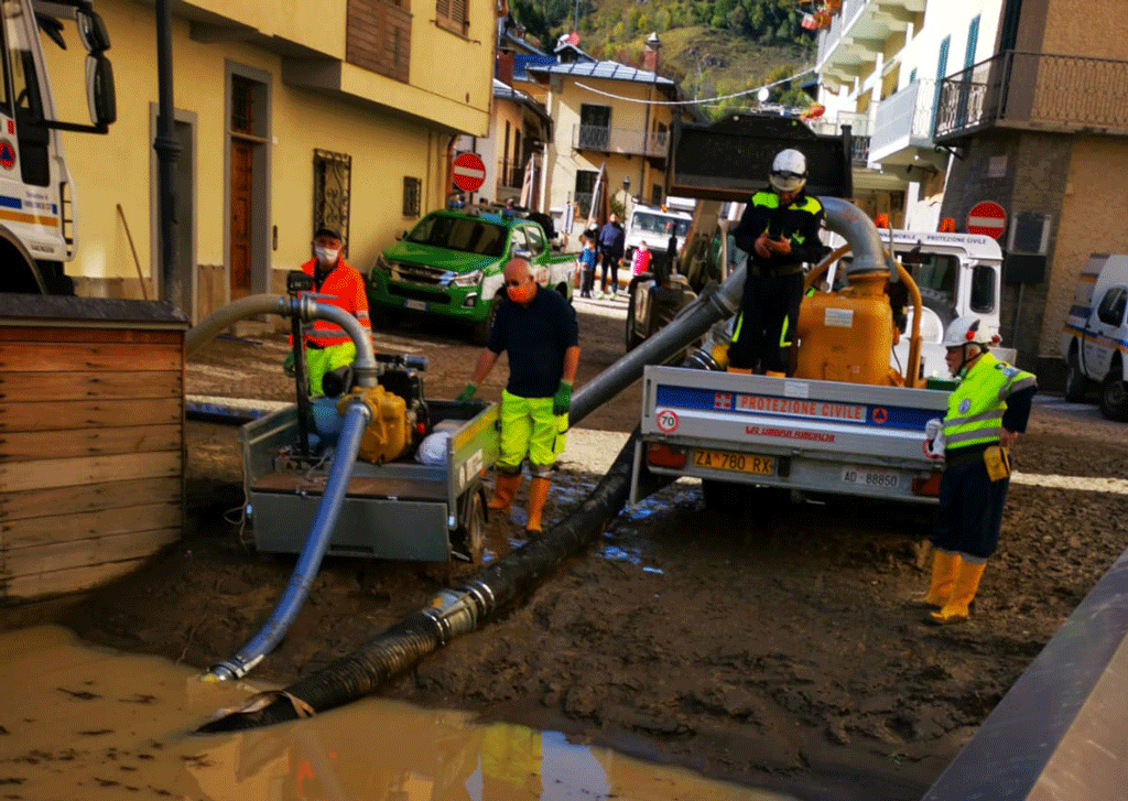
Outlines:
{"type": "Polygon", "coordinates": [[[184,336],[184,355],[191,357],[220,332],[245,317],[255,315],[281,315],[298,317],[303,323],[324,319],[341,326],[353,345],[356,346],[356,360],[353,362],[353,373],[362,387],[374,387],[376,354],[372,351],[372,333],[344,309],[328,303],[319,303],[312,298],[290,298],[284,294],[252,294],[217,309],[188,329],[184,336]]]}

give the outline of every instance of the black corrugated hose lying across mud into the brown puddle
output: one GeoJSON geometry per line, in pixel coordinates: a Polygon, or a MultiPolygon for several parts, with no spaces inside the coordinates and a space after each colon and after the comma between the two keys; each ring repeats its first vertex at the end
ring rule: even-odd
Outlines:
{"type": "Polygon", "coordinates": [[[297,720],[376,692],[456,636],[478,627],[494,613],[532,590],[541,578],[582,551],[619,513],[627,500],[638,429],[580,508],[559,525],[490,565],[464,586],[437,595],[423,609],[372,637],[356,651],[276,694],[273,701],[210,721],[202,733],[239,731],[297,720]]]}

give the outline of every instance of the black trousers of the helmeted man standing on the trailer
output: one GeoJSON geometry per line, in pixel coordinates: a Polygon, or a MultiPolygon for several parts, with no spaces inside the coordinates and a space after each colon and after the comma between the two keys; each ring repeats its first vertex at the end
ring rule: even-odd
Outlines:
{"type": "Polygon", "coordinates": [[[802,273],[744,278],[739,328],[729,347],[729,363],[742,370],[787,372],[788,349],[779,346],[779,335],[786,322],[785,338],[794,340],[802,300],[802,273]]]}

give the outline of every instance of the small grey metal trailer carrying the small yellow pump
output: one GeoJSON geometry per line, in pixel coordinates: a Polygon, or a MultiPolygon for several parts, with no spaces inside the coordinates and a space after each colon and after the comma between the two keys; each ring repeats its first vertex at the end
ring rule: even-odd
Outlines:
{"type": "MultiPolygon", "coordinates": [[[[428,402],[433,424],[460,423],[447,442],[444,465],[422,465],[411,457],[382,465],[358,459],[327,553],[481,562],[486,516],[482,475],[497,460],[499,408],[481,400],[428,402]]],[[[255,547],[301,552],[332,460],[310,466],[288,457],[298,441],[297,406],[247,423],[239,441],[255,547]]]]}

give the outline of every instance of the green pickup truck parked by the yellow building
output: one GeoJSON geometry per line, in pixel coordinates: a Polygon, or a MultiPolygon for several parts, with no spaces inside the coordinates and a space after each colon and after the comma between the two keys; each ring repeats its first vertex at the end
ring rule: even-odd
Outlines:
{"type": "Polygon", "coordinates": [[[475,343],[485,344],[502,269],[518,255],[532,264],[537,283],[572,300],[575,254],[553,253],[537,222],[432,211],[376,259],[367,284],[372,318],[379,326],[400,311],[439,315],[470,324],[475,343]]]}

